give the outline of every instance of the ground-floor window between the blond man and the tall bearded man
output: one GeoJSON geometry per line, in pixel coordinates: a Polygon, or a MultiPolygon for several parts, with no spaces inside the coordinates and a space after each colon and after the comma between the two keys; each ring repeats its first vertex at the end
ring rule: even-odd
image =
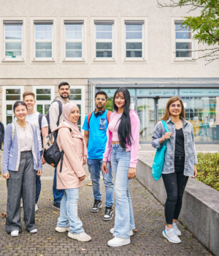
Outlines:
{"type": "Polygon", "coordinates": [[[34,86],[34,94],[37,101],[36,110],[47,115],[54,99],[54,86],[34,86]]]}

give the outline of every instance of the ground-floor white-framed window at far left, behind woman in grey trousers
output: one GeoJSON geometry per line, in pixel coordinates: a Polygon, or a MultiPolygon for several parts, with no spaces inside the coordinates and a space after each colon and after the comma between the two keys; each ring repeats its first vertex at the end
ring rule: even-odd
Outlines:
{"type": "Polygon", "coordinates": [[[4,126],[14,121],[13,105],[17,100],[22,100],[23,86],[3,86],[2,119],[4,126]]]}

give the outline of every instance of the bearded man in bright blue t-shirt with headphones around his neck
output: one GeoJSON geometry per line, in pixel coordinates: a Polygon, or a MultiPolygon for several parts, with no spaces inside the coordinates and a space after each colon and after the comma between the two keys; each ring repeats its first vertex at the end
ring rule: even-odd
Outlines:
{"type": "MultiPolygon", "coordinates": [[[[110,120],[110,112],[104,107],[107,104],[107,94],[105,91],[97,91],[95,95],[96,110],[85,116],[82,129],[85,130],[85,141],[88,146],[88,169],[91,173],[91,181],[93,185],[94,204],[92,212],[98,212],[102,207],[100,192],[100,172],[103,163],[103,154],[107,143],[107,127],[110,120]]],[[[108,164],[109,173],[103,173],[104,185],[106,187],[106,210],[104,220],[110,220],[113,217],[112,205],[113,198],[113,182],[112,168],[108,164]]]]}

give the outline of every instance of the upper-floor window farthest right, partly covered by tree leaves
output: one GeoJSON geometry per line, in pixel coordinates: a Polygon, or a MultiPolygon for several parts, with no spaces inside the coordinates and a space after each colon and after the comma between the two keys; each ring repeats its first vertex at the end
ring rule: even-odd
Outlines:
{"type": "Polygon", "coordinates": [[[175,57],[176,58],[193,58],[193,34],[188,26],[181,21],[175,21],[175,57]]]}

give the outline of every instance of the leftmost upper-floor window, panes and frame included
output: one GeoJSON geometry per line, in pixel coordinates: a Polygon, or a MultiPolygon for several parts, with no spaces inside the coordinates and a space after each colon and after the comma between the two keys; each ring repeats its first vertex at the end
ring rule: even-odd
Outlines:
{"type": "Polygon", "coordinates": [[[4,59],[22,59],[23,21],[4,21],[4,59]]]}

